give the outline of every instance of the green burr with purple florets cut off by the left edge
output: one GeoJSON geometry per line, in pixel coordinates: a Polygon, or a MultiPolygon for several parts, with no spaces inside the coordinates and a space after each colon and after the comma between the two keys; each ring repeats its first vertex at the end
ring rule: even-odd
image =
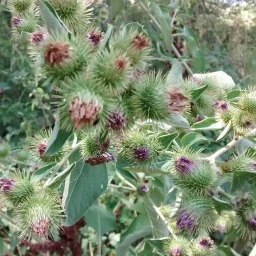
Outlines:
{"type": "Polygon", "coordinates": [[[21,202],[34,195],[38,182],[33,177],[17,171],[0,181],[0,190],[4,193],[4,201],[10,208],[16,208],[21,202]]]}

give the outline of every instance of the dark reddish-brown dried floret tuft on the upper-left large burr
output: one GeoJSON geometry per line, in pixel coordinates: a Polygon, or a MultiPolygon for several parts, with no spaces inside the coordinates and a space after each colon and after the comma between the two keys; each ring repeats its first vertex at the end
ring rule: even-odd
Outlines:
{"type": "Polygon", "coordinates": [[[70,57],[70,47],[66,42],[53,42],[46,46],[45,60],[54,65],[70,57]]]}

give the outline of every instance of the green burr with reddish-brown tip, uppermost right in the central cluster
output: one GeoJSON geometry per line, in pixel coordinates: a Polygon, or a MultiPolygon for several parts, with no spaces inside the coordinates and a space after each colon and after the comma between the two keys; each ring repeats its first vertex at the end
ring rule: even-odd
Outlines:
{"type": "Polygon", "coordinates": [[[110,48],[125,53],[135,70],[145,70],[151,60],[148,37],[135,29],[115,34],[110,40],[110,48]]]}

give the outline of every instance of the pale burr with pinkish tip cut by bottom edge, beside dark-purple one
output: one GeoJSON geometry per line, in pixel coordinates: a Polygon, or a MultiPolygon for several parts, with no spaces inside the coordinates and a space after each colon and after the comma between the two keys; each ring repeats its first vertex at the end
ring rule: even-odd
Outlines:
{"type": "Polygon", "coordinates": [[[163,250],[168,256],[190,255],[190,242],[184,237],[169,238],[163,244],[163,250]]]}

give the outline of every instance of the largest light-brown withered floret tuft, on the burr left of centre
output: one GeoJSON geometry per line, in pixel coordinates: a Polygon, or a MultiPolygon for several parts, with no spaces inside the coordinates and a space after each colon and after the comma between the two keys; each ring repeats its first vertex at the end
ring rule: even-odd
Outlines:
{"type": "Polygon", "coordinates": [[[80,97],[75,97],[69,105],[70,118],[77,129],[86,124],[93,124],[101,111],[102,106],[96,101],[84,101],[80,97]]]}

